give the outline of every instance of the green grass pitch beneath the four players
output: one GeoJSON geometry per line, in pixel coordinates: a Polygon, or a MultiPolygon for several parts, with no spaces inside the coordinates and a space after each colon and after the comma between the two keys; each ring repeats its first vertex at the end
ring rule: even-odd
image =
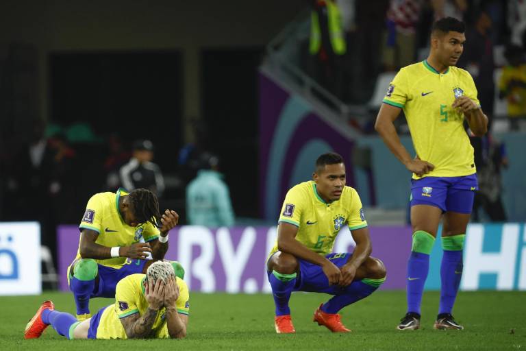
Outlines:
{"type": "MultiPolygon", "coordinates": [[[[0,298],[0,350],[526,350],[526,293],[460,293],[455,317],[462,331],[432,328],[438,292],[427,292],[423,301],[422,329],[400,332],[395,326],[405,311],[403,291],[379,291],[342,312],[342,321],[353,330],[332,334],[312,322],[321,294],[292,295],[296,335],[276,335],[271,295],[192,293],[188,337],[173,340],[68,341],[48,328],[40,339],[23,340],[27,319],[42,300],[51,298],[55,308],[73,312],[68,293],[0,298]]],[[[92,300],[92,311],[110,300],[92,300]]]]}

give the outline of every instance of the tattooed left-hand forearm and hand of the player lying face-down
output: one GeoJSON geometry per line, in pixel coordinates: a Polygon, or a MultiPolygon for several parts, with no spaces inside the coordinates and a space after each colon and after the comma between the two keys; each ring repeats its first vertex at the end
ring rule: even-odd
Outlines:
{"type": "Polygon", "coordinates": [[[144,315],[138,313],[121,319],[128,339],[147,339],[153,335],[151,328],[164,301],[164,283],[157,280],[155,286],[148,282],[145,298],[149,304],[144,315]]]}

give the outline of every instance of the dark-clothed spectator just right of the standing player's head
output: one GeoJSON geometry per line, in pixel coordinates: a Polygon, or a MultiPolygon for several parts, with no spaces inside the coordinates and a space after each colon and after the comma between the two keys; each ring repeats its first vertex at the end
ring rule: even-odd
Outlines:
{"type": "Polygon", "coordinates": [[[495,93],[493,82],[495,63],[490,36],[492,21],[485,11],[474,12],[472,19],[472,24],[466,31],[468,40],[464,44],[464,52],[457,66],[466,69],[473,77],[475,86],[478,88],[480,105],[491,121],[495,93]]]}

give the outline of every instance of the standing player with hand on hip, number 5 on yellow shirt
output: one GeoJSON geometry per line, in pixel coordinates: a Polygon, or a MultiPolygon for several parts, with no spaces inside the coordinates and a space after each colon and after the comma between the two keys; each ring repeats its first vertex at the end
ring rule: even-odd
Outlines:
{"type": "Polygon", "coordinates": [[[464,23],[446,17],[431,29],[427,60],[402,68],[390,84],[375,129],[391,152],[413,173],[412,252],[408,261],[408,310],[397,326],[420,326],[421,300],[429,254],[442,215],[441,292],[437,329],[463,329],[451,311],[462,276],[462,250],[473,209],[477,176],[473,147],[464,119],[475,136],[487,131],[488,118],[477,99],[471,75],[455,67],[464,49],[464,23]],[[403,110],[416,150],[412,158],[400,143],[393,121],[403,110]]]}

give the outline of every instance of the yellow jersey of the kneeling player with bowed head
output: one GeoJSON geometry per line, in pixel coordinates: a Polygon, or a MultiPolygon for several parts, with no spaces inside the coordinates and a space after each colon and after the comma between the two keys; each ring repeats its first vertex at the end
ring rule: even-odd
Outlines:
{"type": "MultiPolygon", "coordinates": [[[[95,243],[106,247],[128,246],[132,243],[138,243],[140,239],[144,239],[146,242],[158,239],[160,232],[150,222],[142,223],[137,227],[131,227],[125,223],[118,211],[118,199],[127,194],[121,188],[116,193],[108,192],[93,195],[88,201],[79,230],[95,230],[99,233],[95,243]]],[[[75,260],[78,258],[81,258],[80,244],[75,260]]],[[[95,261],[99,265],[119,269],[126,263],[126,260],[126,257],[115,257],[95,261]]]]}

